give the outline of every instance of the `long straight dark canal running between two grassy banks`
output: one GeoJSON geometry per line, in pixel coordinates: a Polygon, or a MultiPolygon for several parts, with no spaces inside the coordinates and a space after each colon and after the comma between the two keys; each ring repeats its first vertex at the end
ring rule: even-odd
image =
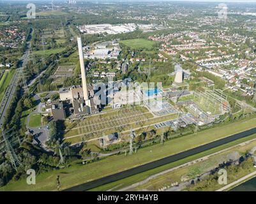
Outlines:
{"type": "MultiPolygon", "coordinates": [[[[135,168],[131,168],[129,170],[121,171],[119,173],[114,173],[112,175],[102,177],[100,179],[93,180],[91,182],[87,182],[84,184],[80,184],[78,186],[74,186],[68,189],[64,189],[64,191],[87,191],[89,189],[93,189],[94,187],[102,186],[104,184],[109,184],[111,182],[115,182],[120,179],[124,179],[126,177],[130,177],[132,175],[136,175],[138,173],[142,173],[144,171],[151,170],[153,168],[157,168],[159,166],[163,166],[165,164],[172,163],[174,161],[177,161],[179,159],[184,159],[186,157],[192,156],[194,154],[198,154],[200,152],[204,152],[206,150],[218,147],[220,145],[223,145],[225,143],[232,142],[234,140],[237,140],[239,138],[244,138],[246,136],[250,136],[256,133],[256,128],[249,129],[248,131],[244,131],[242,133],[237,133],[236,135],[228,136],[227,138],[223,138],[220,140],[216,140],[215,142],[207,143],[206,145],[201,145],[199,147],[195,147],[190,150],[186,150],[184,152],[174,154],[172,156],[165,157],[163,159],[158,159],[156,161],[153,161],[151,163],[143,164],[141,166],[137,166],[135,168]]],[[[138,153],[139,154],[139,153],[138,153]]],[[[82,180],[82,178],[81,178],[82,180]]]]}

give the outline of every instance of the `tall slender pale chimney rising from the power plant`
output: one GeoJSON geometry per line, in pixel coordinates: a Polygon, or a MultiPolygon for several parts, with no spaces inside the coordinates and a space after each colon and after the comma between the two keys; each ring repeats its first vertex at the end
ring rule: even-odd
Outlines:
{"type": "Polygon", "coordinates": [[[79,47],[79,59],[80,59],[80,68],[81,68],[81,75],[82,75],[82,91],[84,92],[84,100],[87,101],[88,91],[87,91],[87,84],[86,84],[86,68],[84,68],[84,54],[82,52],[82,41],[80,37],[77,37],[77,43],[79,47]]]}

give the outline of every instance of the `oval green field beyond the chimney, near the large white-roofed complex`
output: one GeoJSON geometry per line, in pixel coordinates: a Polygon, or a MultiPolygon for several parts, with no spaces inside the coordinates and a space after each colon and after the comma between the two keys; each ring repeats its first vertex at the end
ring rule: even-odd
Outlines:
{"type": "Polygon", "coordinates": [[[127,47],[130,47],[133,49],[140,49],[140,48],[151,49],[154,47],[154,45],[156,45],[154,41],[145,40],[142,38],[132,39],[132,40],[123,40],[123,41],[120,41],[120,43],[123,43],[127,47]]]}

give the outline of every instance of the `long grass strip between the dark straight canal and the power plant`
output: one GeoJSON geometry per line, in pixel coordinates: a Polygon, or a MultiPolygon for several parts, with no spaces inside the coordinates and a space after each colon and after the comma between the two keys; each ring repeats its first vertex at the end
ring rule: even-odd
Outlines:
{"type": "MultiPolygon", "coordinates": [[[[55,191],[57,175],[60,175],[61,186],[63,189],[72,187],[135,166],[140,166],[172,154],[177,154],[178,152],[183,152],[184,150],[192,149],[205,143],[219,140],[220,138],[225,138],[226,136],[245,131],[246,129],[254,128],[255,122],[256,119],[241,120],[227,126],[207,129],[206,131],[197,133],[197,135],[187,135],[169,140],[165,142],[163,146],[156,144],[139,149],[137,154],[133,154],[132,156],[124,156],[124,154],[121,154],[110,156],[90,164],[73,164],[69,168],[37,175],[36,185],[29,186],[26,184],[26,180],[19,180],[17,182],[11,181],[10,184],[0,188],[0,190],[55,191]]],[[[255,138],[255,136],[253,136],[253,138],[255,138]]]]}

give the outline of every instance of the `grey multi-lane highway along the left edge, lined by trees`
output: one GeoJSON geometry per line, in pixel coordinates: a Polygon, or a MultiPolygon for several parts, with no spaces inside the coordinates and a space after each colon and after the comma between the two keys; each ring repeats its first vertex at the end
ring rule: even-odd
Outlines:
{"type": "MultiPolygon", "coordinates": [[[[32,32],[33,31],[31,31],[31,33],[32,32]]],[[[13,78],[11,78],[10,84],[8,85],[6,91],[4,92],[4,97],[1,101],[1,106],[0,106],[0,129],[3,126],[6,111],[8,110],[8,107],[11,103],[11,99],[13,98],[13,94],[18,85],[20,73],[23,71],[24,66],[26,66],[27,61],[29,60],[30,47],[31,47],[31,41],[29,40],[26,43],[26,52],[20,58],[20,60],[22,61],[22,67],[15,70],[15,74],[13,75],[13,78]]]]}

